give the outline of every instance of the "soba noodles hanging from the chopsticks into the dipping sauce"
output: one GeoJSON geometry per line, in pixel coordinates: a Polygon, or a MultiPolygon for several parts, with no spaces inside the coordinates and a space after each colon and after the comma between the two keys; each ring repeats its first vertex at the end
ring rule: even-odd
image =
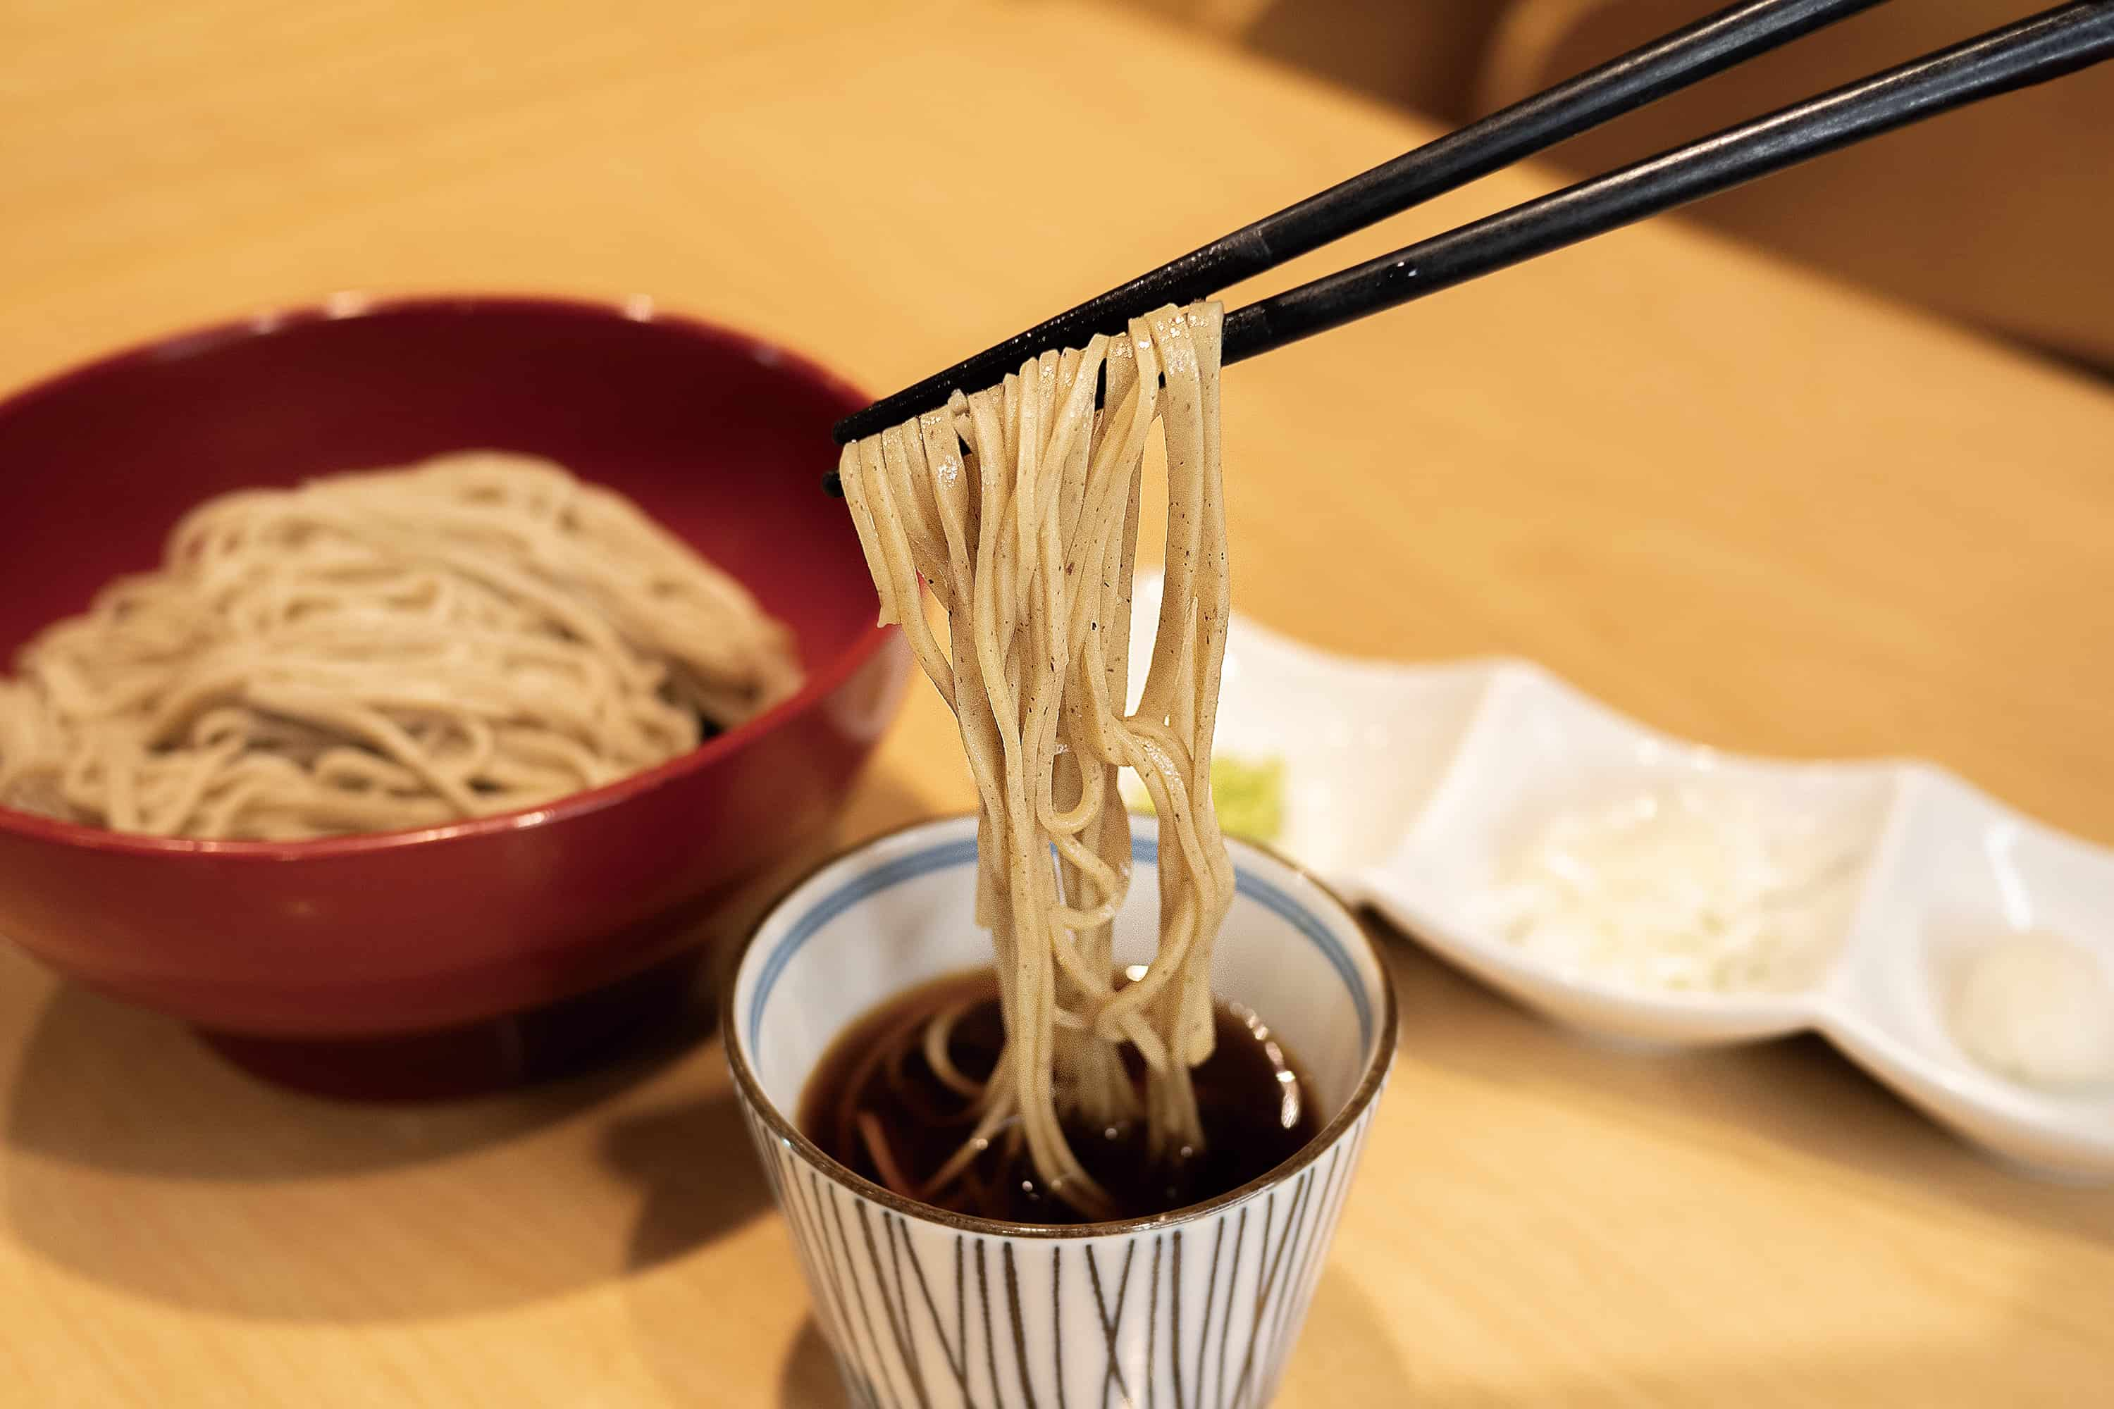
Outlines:
{"type": "MultiPolygon", "coordinates": [[[[1211,944],[1232,900],[1209,782],[1228,610],[1218,355],[1218,304],[1161,308],[1127,338],[1044,353],[1000,387],[843,450],[882,619],[903,625],[953,706],[977,782],[977,919],[991,929],[1006,1022],[977,1132],[917,1194],[1017,1132],[1057,1196],[1089,1215],[1106,1206],[1063,1122],[1099,1130],[1139,1115],[1123,1046],[1146,1069],[1148,1149],[1201,1147],[1190,1067],[1211,1054],[1211,944]],[[1125,714],[1154,422],[1167,585],[1142,701],[1125,714]],[[947,610],[947,649],[926,625],[920,577],[947,610]],[[1131,875],[1125,767],[1161,818],[1158,953],[1131,982],[1112,953],[1131,875]]],[[[970,1084],[947,1060],[947,1020],[924,1052],[960,1090],[970,1084]]]]}

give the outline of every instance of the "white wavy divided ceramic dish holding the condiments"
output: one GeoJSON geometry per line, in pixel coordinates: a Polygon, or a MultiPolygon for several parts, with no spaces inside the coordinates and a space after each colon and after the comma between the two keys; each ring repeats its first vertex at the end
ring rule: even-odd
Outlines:
{"type": "MultiPolygon", "coordinates": [[[[1150,623],[1158,581],[1139,581],[1150,623]]],[[[1133,680],[1150,655],[1133,640],[1133,680]]],[[[2114,972],[2114,851],[1928,763],[1740,758],[1636,725],[1526,661],[1395,665],[1315,651],[1235,615],[1218,750],[1285,760],[1277,845],[1418,942],[1581,1031],[1710,1046],[1818,1031],[1998,1156],[2114,1179],[2114,1088],[2038,1092],[1970,1060],[1945,1025],[1966,948],[2046,927],[2114,972]],[[1617,788],[1708,779],[1788,803],[1846,883],[1810,972],[1769,993],[1655,993],[1566,972],[1476,919],[1524,828],[1617,788]]]]}

